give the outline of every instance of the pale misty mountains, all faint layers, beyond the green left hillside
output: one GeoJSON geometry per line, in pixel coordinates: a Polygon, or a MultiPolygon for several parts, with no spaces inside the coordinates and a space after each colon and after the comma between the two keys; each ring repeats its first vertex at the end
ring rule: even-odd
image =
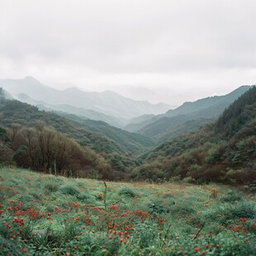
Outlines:
{"type": "Polygon", "coordinates": [[[151,104],[122,97],[116,92],[83,92],[78,88],[60,91],[40,83],[35,78],[1,79],[0,87],[18,100],[34,103],[54,111],[64,109],[71,114],[100,121],[109,121],[122,126],[127,120],[145,114],[160,114],[170,106],[164,103],[151,104]],[[105,115],[105,116],[104,116],[105,115]],[[112,116],[110,118],[110,116],[112,116]]]}

